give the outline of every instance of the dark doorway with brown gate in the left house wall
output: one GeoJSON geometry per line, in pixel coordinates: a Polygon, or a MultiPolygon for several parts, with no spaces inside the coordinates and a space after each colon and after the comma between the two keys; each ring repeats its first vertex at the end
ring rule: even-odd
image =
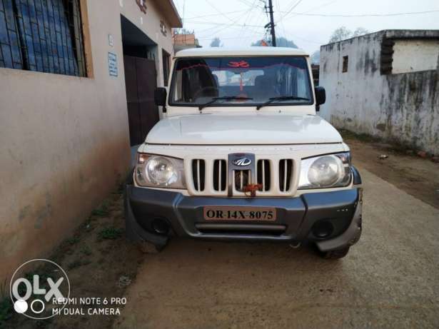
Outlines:
{"type": "Polygon", "coordinates": [[[121,27],[128,126],[130,144],[134,146],[145,141],[159,120],[158,107],[154,103],[157,45],[123,16],[121,27]]]}

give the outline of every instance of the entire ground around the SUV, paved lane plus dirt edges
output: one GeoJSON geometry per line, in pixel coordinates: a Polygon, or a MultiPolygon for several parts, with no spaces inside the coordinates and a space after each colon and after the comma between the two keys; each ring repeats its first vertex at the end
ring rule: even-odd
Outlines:
{"type": "Polygon", "coordinates": [[[343,135],[365,186],[363,236],[347,258],[181,239],[144,255],[123,238],[117,191],[50,259],[73,296],[126,297],[121,315],[11,315],[4,327],[438,328],[439,164],[343,135]]]}

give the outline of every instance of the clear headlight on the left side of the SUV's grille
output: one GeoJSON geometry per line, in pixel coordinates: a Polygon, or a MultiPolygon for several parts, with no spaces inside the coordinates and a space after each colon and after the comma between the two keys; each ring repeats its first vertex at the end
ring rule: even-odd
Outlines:
{"type": "Polygon", "coordinates": [[[186,188],[183,160],[178,158],[138,153],[134,176],[140,186],[186,188]]]}

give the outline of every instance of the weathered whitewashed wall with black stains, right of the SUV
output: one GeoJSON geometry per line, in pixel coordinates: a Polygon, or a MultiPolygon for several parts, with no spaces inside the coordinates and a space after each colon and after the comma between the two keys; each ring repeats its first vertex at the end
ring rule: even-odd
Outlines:
{"type": "MultiPolygon", "coordinates": [[[[438,71],[380,74],[381,41],[388,33],[381,31],[321,47],[320,85],[326,88],[321,116],[338,128],[439,154],[438,71]],[[348,71],[344,73],[343,56],[348,56],[348,71]]],[[[424,53],[424,46],[428,54],[439,54],[435,53],[438,49],[431,51],[430,41],[415,42],[418,49],[413,43],[407,47],[396,41],[395,46],[399,45],[393,59],[398,69],[402,64],[396,56],[404,46],[415,49],[410,56],[424,53]]],[[[430,65],[430,57],[424,63],[430,65]]],[[[437,63],[436,57],[435,67],[437,63]]]]}

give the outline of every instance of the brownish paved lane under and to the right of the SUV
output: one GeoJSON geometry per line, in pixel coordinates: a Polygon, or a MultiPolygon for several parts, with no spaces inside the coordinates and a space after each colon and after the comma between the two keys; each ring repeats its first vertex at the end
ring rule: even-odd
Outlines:
{"type": "Polygon", "coordinates": [[[347,258],[173,240],[146,256],[113,328],[438,328],[439,210],[360,172],[363,236],[347,258]]]}

